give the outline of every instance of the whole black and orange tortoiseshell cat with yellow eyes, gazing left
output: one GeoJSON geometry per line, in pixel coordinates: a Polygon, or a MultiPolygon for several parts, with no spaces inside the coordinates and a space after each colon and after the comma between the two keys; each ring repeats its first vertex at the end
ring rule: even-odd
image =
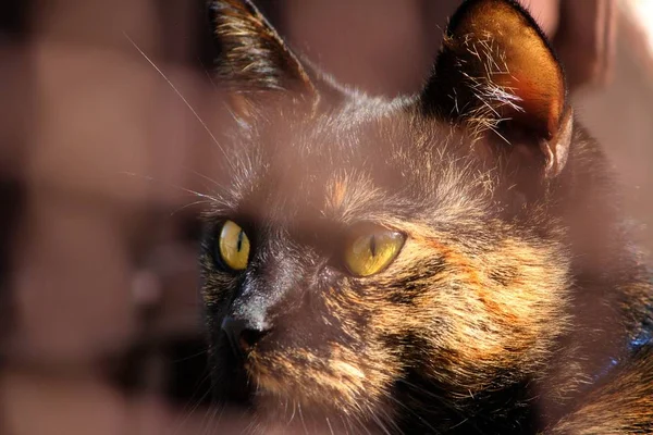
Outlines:
{"type": "Polygon", "coordinates": [[[219,403],[260,433],[653,433],[651,275],[519,3],[463,2],[394,99],[249,1],[210,10],[233,115],[200,256],[219,403]]]}

